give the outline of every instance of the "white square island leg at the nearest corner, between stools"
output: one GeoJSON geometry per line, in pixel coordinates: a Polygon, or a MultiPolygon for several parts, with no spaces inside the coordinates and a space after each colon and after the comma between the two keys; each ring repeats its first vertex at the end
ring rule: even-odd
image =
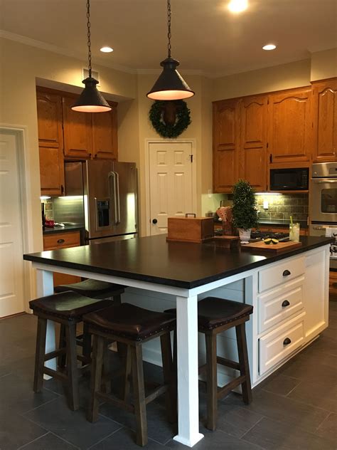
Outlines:
{"type": "Polygon", "coordinates": [[[178,349],[178,434],[175,441],[193,447],[199,433],[198,297],[176,298],[178,349]]]}

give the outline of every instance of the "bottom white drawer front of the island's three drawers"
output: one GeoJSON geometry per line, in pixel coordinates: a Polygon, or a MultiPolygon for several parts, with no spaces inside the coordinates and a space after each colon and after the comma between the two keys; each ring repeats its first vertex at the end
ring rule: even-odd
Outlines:
{"type": "Polygon", "coordinates": [[[301,313],[289,323],[260,338],[260,375],[304,343],[304,315],[305,313],[301,313]]]}

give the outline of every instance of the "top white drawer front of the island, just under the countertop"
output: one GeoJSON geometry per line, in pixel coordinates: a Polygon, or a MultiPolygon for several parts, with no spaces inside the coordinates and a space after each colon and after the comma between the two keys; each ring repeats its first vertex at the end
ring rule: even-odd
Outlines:
{"type": "Polygon", "coordinates": [[[305,258],[296,258],[284,261],[275,266],[259,271],[259,292],[267,291],[282,283],[287,283],[297,276],[303,275],[305,271],[305,258]]]}

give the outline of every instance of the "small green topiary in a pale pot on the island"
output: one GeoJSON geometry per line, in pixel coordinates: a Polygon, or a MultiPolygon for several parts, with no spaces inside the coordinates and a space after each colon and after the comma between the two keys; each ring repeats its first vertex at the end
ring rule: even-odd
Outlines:
{"type": "Polygon", "coordinates": [[[233,187],[233,225],[239,230],[241,241],[249,241],[250,231],[258,224],[254,194],[254,189],[245,179],[239,179],[233,187]]]}

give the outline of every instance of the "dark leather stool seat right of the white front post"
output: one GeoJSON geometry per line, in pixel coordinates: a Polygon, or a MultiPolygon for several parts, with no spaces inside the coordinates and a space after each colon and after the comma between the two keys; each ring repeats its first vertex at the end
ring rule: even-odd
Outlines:
{"type": "MultiPolygon", "coordinates": [[[[252,314],[252,305],[238,303],[223,298],[208,297],[198,302],[198,328],[200,331],[213,330],[222,325],[252,314]]],[[[165,313],[176,315],[176,309],[165,313]]]]}

